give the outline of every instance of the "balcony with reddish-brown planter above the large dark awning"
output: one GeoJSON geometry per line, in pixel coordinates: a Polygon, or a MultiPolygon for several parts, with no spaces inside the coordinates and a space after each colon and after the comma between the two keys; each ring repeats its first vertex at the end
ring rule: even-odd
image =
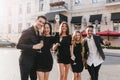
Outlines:
{"type": "Polygon", "coordinates": [[[67,11],[68,10],[68,4],[64,1],[54,2],[50,3],[50,11],[56,12],[56,11],[67,11]]]}

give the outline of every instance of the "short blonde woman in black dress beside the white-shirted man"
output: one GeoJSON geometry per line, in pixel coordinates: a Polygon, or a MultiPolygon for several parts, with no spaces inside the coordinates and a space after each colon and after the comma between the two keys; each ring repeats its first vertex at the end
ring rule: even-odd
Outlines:
{"type": "Polygon", "coordinates": [[[72,36],[71,46],[71,68],[73,72],[73,80],[81,80],[81,72],[83,71],[83,39],[79,31],[75,31],[72,36]]]}

